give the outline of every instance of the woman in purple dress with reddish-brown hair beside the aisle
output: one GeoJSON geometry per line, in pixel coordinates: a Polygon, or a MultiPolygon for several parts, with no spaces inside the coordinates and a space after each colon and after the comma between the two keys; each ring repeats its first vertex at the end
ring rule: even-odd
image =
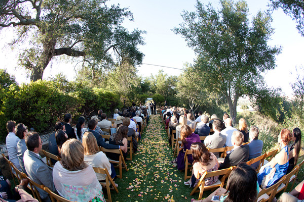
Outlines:
{"type": "MultiPolygon", "coordinates": [[[[183,150],[181,150],[177,156],[176,159],[171,161],[170,163],[172,165],[177,164],[177,169],[178,170],[183,170],[185,169],[185,164],[184,164],[184,155],[185,155],[185,150],[186,149],[191,149],[191,144],[194,142],[201,142],[200,136],[198,134],[195,134],[192,132],[191,128],[187,125],[182,126],[180,129],[180,135],[181,135],[181,144],[183,146],[183,150]]],[[[188,155],[188,162],[192,163],[193,158],[192,155],[188,155]]]]}

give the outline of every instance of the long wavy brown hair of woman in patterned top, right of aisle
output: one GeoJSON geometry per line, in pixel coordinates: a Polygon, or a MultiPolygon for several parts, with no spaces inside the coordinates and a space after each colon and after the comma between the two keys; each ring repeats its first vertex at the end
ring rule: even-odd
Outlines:
{"type": "Polygon", "coordinates": [[[202,165],[210,165],[209,161],[212,161],[211,153],[202,142],[194,142],[191,144],[192,158],[196,162],[200,162],[202,165]]]}

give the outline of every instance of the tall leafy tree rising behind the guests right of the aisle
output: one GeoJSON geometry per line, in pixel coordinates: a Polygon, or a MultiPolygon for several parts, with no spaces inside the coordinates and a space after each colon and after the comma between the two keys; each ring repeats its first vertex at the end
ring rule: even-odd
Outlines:
{"type": "Polygon", "coordinates": [[[260,73],[275,68],[280,47],[267,44],[273,33],[271,16],[258,12],[249,23],[246,2],[220,3],[216,11],[211,4],[198,1],[196,12],[184,11],[184,22],[174,32],[194,49],[195,68],[206,89],[225,96],[235,121],[238,98],[256,92],[263,83],[260,73]]]}

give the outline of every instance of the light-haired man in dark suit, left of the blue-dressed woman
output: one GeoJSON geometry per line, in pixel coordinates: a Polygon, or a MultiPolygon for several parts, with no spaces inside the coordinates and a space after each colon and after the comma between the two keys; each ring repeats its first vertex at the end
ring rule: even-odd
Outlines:
{"type": "Polygon", "coordinates": [[[247,162],[249,158],[249,146],[247,144],[242,145],[244,141],[244,135],[240,131],[234,131],[232,134],[232,142],[234,144],[234,150],[228,154],[223,163],[219,164],[219,170],[236,166],[241,162],[247,162]]]}

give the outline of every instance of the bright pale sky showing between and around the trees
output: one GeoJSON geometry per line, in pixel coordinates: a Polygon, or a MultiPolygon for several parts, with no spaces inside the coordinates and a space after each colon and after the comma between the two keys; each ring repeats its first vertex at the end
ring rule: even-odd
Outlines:
{"type": "MultiPolygon", "coordinates": [[[[208,4],[208,1],[201,1],[203,4],[208,4]]],[[[219,1],[211,1],[215,8],[219,7],[219,1]]],[[[146,44],[140,47],[140,50],[145,54],[143,65],[137,67],[138,73],[142,76],[157,74],[163,69],[168,75],[179,75],[181,71],[150,66],[145,64],[154,64],[168,66],[174,68],[182,68],[184,63],[193,63],[195,54],[193,50],[186,46],[186,42],[180,35],[175,35],[171,29],[178,26],[182,22],[180,13],[183,10],[195,11],[195,0],[155,0],[155,1],[139,1],[139,0],[112,0],[108,4],[120,4],[121,7],[129,7],[133,13],[134,22],[126,20],[124,26],[129,30],[138,28],[145,30],[144,35],[146,44]]],[[[268,9],[268,1],[247,1],[249,7],[249,16],[252,19],[259,10],[268,9]]],[[[295,67],[304,64],[303,47],[304,37],[301,37],[295,29],[295,22],[289,16],[286,16],[282,10],[273,13],[272,26],[275,28],[275,33],[270,45],[281,45],[282,53],[277,56],[277,67],[265,74],[265,81],[269,86],[281,87],[286,95],[291,94],[292,89],[290,82],[295,79],[295,67]]],[[[11,51],[4,44],[11,38],[11,30],[0,34],[1,54],[0,60],[2,64],[0,68],[7,68],[11,74],[15,74],[19,83],[28,82],[25,79],[23,69],[15,69],[17,66],[17,49],[11,51]]],[[[65,57],[66,58],[66,57],[65,57]]],[[[77,69],[77,67],[76,67],[77,69]]],[[[69,80],[73,80],[75,75],[74,65],[70,61],[59,59],[52,60],[47,67],[44,78],[54,76],[58,72],[63,72],[69,80]]]]}

